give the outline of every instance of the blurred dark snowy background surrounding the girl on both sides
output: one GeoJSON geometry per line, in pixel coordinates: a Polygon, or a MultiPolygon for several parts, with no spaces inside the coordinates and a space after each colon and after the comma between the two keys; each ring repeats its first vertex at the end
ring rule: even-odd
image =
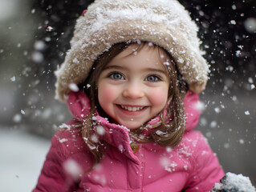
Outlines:
{"type": "MultiPolygon", "coordinates": [[[[54,99],[54,71],[75,19],[93,1],[0,0],[0,189],[30,191],[57,126],[71,119],[54,99]]],[[[200,26],[212,74],[197,130],[226,172],[256,186],[256,1],[180,0],[200,26]]]]}

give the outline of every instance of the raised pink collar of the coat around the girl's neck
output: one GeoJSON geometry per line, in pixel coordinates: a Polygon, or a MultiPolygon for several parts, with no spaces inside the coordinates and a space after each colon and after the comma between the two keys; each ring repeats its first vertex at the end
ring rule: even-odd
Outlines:
{"type": "MultiPolygon", "coordinates": [[[[185,131],[193,130],[193,128],[197,126],[200,118],[200,110],[197,110],[196,107],[198,101],[199,97],[197,94],[193,94],[192,92],[188,91],[188,93],[185,95],[185,131]]],[[[82,91],[71,92],[67,100],[67,106],[77,121],[84,122],[87,118],[87,114],[90,112],[90,99],[82,91]]],[[[136,155],[133,154],[130,147],[131,140],[129,138],[128,128],[115,123],[110,123],[108,122],[108,119],[101,117],[100,114],[96,114],[94,118],[96,124],[95,129],[101,130],[100,133],[103,133],[100,135],[100,138],[108,141],[110,145],[116,146],[121,153],[126,154],[134,161],[139,161],[136,158],[136,155]]],[[[159,117],[152,118],[152,120],[148,122],[148,127],[155,127],[159,122],[159,117]]],[[[150,129],[148,130],[150,131],[150,129]]]]}

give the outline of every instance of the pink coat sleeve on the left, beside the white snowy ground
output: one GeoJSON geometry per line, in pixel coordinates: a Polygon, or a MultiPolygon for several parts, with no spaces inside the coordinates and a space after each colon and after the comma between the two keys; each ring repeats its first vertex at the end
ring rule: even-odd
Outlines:
{"type": "Polygon", "coordinates": [[[67,186],[67,177],[63,171],[64,156],[62,145],[55,134],[51,139],[51,148],[43,164],[38,183],[32,192],[73,191],[70,190],[71,186],[67,186]]]}

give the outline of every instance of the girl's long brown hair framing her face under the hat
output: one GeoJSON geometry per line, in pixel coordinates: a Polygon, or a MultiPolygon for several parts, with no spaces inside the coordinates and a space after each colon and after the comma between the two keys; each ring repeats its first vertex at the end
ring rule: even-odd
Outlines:
{"type": "MultiPolygon", "coordinates": [[[[97,110],[101,114],[104,111],[101,109],[98,101],[98,91],[97,91],[97,81],[100,76],[101,71],[104,69],[104,66],[116,57],[117,54],[120,54],[123,50],[128,48],[132,43],[136,42],[120,42],[112,46],[108,51],[100,55],[100,57],[95,61],[94,65],[91,68],[88,78],[79,85],[80,89],[87,94],[91,100],[91,111],[88,114],[87,120],[83,123],[82,135],[83,140],[89,146],[91,154],[95,157],[95,164],[100,162],[103,158],[104,151],[108,146],[108,143],[104,141],[93,142],[91,140],[91,135],[95,134],[95,126],[93,122],[93,116],[97,110]],[[90,85],[87,87],[87,85],[90,85]]],[[[148,42],[139,42],[136,51],[140,51],[148,42]]],[[[152,45],[154,49],[162,49],[160,46],[152,45]]],[[[181,142],[185,130],[185,117],[184,117],[184,106],[183,99],[185,97],[185,92],[187,86],[185,80],[182,78],[177,70],[177,65],[173,61],[173,58],[167,51],[165,53],[169,56],[170,65],[166,66],[169,73],[169,93],[168,98],[171,101],[167,107],[167,114],[164,117],[164,110],[161,111],[159,117],[161,118],[161,123],[156,127],[152,128],[149,136],[141,138],[144,129],[148,129],[147,123],[137,128],[135,130],[130,130],[130,137],[136,141],[140,142],[156,142],[160,146],[170,146],[175,147],[181,142]]],[[[104,114],[108,117],[108,114],[104,114]]]]}

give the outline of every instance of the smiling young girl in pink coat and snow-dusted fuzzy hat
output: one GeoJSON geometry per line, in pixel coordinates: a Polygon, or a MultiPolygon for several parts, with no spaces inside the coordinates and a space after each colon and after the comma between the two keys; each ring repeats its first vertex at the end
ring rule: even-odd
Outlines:
{"type": "Polygon", "coordinates": [[[56,72],[63,124],[36,191],[209,191],[223,170],[197,126],[208,66],[176,0],[96,0],[56,72]]]}

